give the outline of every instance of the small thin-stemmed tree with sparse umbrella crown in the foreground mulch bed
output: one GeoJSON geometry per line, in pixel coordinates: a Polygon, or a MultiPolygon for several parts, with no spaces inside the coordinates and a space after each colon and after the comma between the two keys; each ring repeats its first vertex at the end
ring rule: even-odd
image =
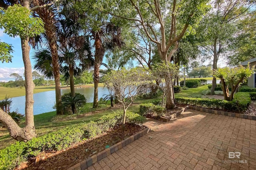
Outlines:
{"type": "Polygon", "coordinates": [[[138,95],[145,92],[147,89],[145,87],[149,84],[149,76],[143,68],[112,70],[104,76],[104,85],[115,92],[117,100],[123,105],[122,129],[124,129],[128,107],[138,95]]]}

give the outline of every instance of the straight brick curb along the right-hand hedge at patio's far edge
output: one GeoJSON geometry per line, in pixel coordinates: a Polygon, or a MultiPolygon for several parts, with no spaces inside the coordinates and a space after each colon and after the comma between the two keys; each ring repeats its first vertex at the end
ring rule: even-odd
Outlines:
{"type": "Polygon", "coordinates": [[[232,112],[227,112],[227,111],[220,111],[220,110],[212,110],[212,109],[206,109],[202,107],[195,107],[195,106],[188,106],[189,109],[196,110],[196,111],[203,111],[207,113],[214,113],[218,115],[225,115],[225,116],[231,116],[231,117],[240,117],[244,119],[251,119],[251,120],[256,120],[255,115],[246,115],[246,114],[240,114],[240,113],[232,113],[232,112]]]}

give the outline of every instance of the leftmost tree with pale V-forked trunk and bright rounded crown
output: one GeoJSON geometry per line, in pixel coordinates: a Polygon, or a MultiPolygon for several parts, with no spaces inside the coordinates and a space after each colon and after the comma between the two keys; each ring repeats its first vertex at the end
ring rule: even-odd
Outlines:
{"type": "MultiPolygon", "coordinates": [[[[32,18],[30,16],[30,2],[28,0],[23,1],[23,6],[24,7],[20,5],[9,6],[6,10],[0,8],[0,28],[4,28],[4,33],[7,33],[10,37],[19,36],[21,39],[22,59],[25,68],[26,125],[23,128],[19,127],[12,117],[2,109],[0,109],[0,121],[7,127],[12,138],[26,142],[37,136],[33,114],[33,89],[35,85],[32,78],[32,66],[29,57],[30,46],[28,41],[30,37],[44,32],[44,24],[39,18],[32,18]]],[[[0,53],[2,53],[2,51],[0,51],[0,53]]],[[[7,57],[7,60],[10,61],[9,58],[10,56],[7,57]]],[[[6,61],[6,57],[1,56],[0,59],[6,61]]]]}

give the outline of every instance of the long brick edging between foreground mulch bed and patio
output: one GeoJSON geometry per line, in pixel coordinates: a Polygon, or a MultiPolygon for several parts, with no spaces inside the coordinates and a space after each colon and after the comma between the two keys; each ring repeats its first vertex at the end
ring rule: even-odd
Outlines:
{"type": "Polygon", "coordinates": [[[94,163],[99,162],[103,158],[106,158],[108,155],[122,149],[126,145],[129,145],[133,141],[136,141],[140,137],[146,135],[147,133],[150,132],[150,130],[151,130],[151,127],[146,127],[146,129],[124,139],[123,141],[116,143],[115,145],[113,145],[97,154],[92,155],[91,157],[79,162],[78,164],[75,164],[74,166],[71,166],[70,168],[68,168],[68,170],[85,170],[89,166],[92,166],[94,163]]]}

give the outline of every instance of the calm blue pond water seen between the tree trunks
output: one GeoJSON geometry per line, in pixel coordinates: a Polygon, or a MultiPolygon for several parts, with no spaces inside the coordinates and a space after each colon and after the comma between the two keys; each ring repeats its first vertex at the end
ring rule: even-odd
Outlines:
{"type": "MultiPolygon", "coordinates": [[[[70,89],[62,89],[61,94],[69,93],[70,89]]],[[[87,103],[93,102],[94,87],[87,88],[75,88],[76,93],[84,94],[87,103]]],[[[99,99],[103,97],[104,94],[109,94],[107,88],[98,87],[99,99]]],[[[41,92],[34,94],[34,115],[41,113],[46,113],[49,111],[55,111],[52,107],[55,104],[55,90],[41,92]]],[[[25,112],[25,96],[12,98],[11,111],[18,109],[19,113],[24,114],[25,112]]]]}

